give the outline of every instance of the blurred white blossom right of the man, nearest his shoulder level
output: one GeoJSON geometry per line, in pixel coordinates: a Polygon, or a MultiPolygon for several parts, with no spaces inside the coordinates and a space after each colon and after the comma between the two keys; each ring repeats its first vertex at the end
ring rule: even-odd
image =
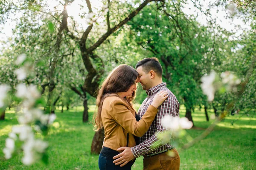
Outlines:
{"type": "Polygon", "coordinates": [[[213,82],[215,80],[216,73],[212,71],[209,76],[203,76],[201,78],[201,88],[205,95],[207,95],[208,101],[211,102],[214,99],[215,88],[213,82]]]}

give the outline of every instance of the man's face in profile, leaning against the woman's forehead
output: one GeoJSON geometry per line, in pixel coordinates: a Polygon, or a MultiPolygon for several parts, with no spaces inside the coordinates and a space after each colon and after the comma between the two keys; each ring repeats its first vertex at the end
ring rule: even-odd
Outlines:
{"type": "Polygon", "coordinates": [[[145,73],[142,66],[137,68],[137,72],[139,73],[138,82],[142,85],[142,89],[145,91],[149,90],[151,88],[150,73],[145,73]]]}

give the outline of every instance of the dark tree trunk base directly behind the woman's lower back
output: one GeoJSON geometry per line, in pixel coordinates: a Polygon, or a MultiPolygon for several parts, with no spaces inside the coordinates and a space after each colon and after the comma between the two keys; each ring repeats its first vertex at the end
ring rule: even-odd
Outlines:
{"type": "Polygon", "coordinates": [[[91,146],[92,154],[99,154],[102,149],[102,144],[104,140],[104,129],[100,129],[97,131],[93,137],[93,143],[91,146]]]}

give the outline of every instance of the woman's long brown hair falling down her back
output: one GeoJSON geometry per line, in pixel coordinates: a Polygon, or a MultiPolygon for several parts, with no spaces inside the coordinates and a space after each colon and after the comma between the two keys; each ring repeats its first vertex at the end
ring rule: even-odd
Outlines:
{"type": "MultiPolygon", "coordinates": [[[[99,88],[98,96],[96,99],[96,107],[98,110],[94,113],[93,119],[95,122],[95,129],[98,131],[103,127],[101,112],[102,104],[106,97],[113,96],[118,92],[126,92],[129,90],[131,85],[135,83],[135,80],[139,76],[138,72],[129,65],[119,65],[108,74],[108,77],[104,80],[99,88]]],[[[118,96],[118,95],[116,95],[118,96]]],[[[135,97],[135,92],[129,96],[125,97],[123,100],[127,102],[129,109],[134,111],[131,101],[135,97]]],[[[122,99],[122,98],[121,98],[122,99]]]]}

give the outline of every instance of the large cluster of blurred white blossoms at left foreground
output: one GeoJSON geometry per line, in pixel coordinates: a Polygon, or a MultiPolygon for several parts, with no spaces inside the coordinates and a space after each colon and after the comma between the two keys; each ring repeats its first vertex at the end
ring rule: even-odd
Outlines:
{"type": "MultiPolygon", "coordinates": [[[[16,64],[18,65],[23,63],[25,59],[25,55],[19,56],[16,64]]],[[[30,65],[27,65],[26,67],[25,63],[25,67],[15,70],[17,79],[25,79],[29,67],[30,65]]],[[[8,90],[9,86],[0,85],[0,106],[4,104],[3,101],[7,96],[8,90]]],[[[23,142],[23,145],[21,146],[24,153],[22,163],[30,165],[41,159],[42,153],[44,153],[48,147],[47,142],[44,142],[41,139],[35,139],[35,134],[31,125],[37,120],[45,125],[52,124],[56,116],[55,114],[44,114],[41,109],[35,108],[36,100],[41,97],[41,94],[35,85],[29,85],[27,87],[25,84],[18,84],[16,90],[16,96],[23,99],[22,105],[17,109],[17,112],[20,112],[20,108],[23,108],[23,113],[18,113],[17,118],[21,125],[15,125],[12,127],[12,132],[9,133],[9,138],[6,139],[6,147],[3,149],[3,153],[5,154],[6,159],[10,159],[15,151],[15,141],[19,140],[23,142]]],[[[39,131],[40,126],[35,125],[34,129],[39,131]]]]}

